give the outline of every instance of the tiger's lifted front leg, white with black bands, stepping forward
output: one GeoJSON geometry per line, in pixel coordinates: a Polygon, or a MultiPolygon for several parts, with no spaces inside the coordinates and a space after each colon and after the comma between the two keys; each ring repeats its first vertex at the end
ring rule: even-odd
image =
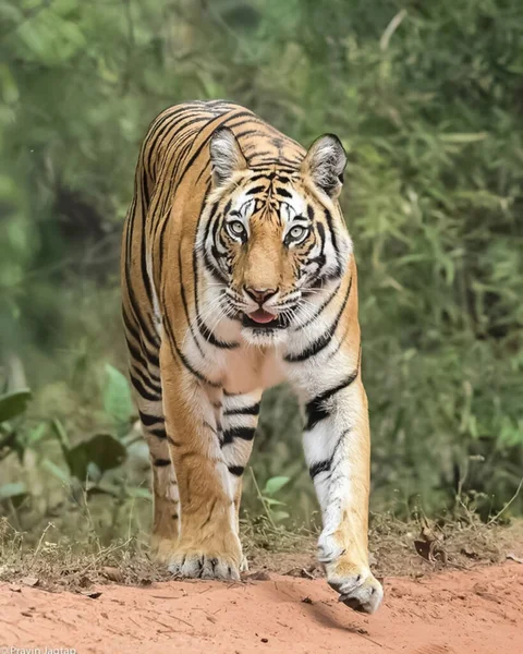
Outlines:
{"type": "Polygon", "coordinates": [[[369,426],[360,371],[309,397],[305,458],[321,507],[319,560],[351,608],[374,613],[384,596],[368,566],[369,426]]]}

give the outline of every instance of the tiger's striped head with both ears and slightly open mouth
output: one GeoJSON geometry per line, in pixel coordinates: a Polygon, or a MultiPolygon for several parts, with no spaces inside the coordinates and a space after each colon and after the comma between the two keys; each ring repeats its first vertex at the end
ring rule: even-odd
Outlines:
{"type": "Polygon", "coordinates": [[[220,307],[253,344],[283,342],[346,270],[352,241],[337,201],[346,155],[317,138],[295,169],[250,167],[233,132],[210,141],[212,194],[199,247],[220,307]]]}

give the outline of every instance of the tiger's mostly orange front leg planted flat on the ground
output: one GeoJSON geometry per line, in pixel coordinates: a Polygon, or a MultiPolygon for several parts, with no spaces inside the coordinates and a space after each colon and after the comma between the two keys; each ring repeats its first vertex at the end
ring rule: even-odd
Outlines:
{"type": "Polygon", "coordinates": [[[169,570],[182,577],[239,579],[236,489],[216,410],[222,391],[197,379],[165,351],[160,361],[167,437],[179,491],[179,534],[165,558],[169,570]]]}

